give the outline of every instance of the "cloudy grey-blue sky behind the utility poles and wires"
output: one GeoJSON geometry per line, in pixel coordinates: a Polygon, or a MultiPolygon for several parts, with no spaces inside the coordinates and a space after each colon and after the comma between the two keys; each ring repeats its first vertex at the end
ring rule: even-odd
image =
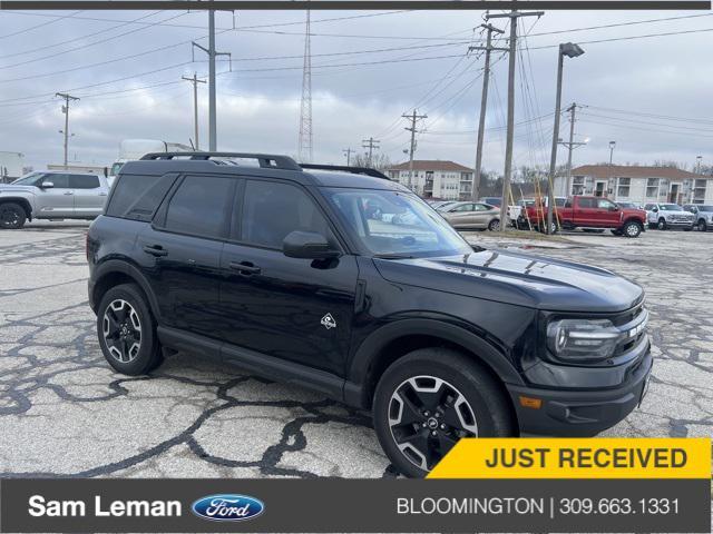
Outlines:
{"type": "MultiPolygon", "coordinates": [[[[393,161],[414,108],[420,159],[472,166],[484,58],[485,12],[313,11],[314,160],[343,162],[342,149],[379,139],[393,161]]],[[[302,90],[302,11],[216,16],[218,148],[296,156],[302,90]],[[235,28],[234,28],[235,27],[235,28]]],[[[507,19],[494,19],[502,29],[507,19]]],[[[713,162],[713,13],[549,11],[520,21],[515,164],[547,166],[557,44],[586,53],[565,63],[563,103],[576,101],[575,164],[713,162]],[[687,33],[682,33],[682,32],[687,33]],[[651,37],[642,37],[651,36],[651,37]]],[[[61,162],[61,102],[72,103],[69,157],[109,165],[126,138],[186,142],[193,93],[182,76],[207,72],[207,13],[184,11],[0,11],[0,150],[43,168],[61,162]]],[[[500,40],[497,46],[506,46],[500,40]]],[[[484,166],[501,171],[507,57],[494,52],[484,166]]],[[[207,89],[199,86],[207,145],[207,89]]],[[[569,123],[563,119],[561,134],[569,123]]],[[[560,150],[559,160],[566,154],[560,150]]]]}

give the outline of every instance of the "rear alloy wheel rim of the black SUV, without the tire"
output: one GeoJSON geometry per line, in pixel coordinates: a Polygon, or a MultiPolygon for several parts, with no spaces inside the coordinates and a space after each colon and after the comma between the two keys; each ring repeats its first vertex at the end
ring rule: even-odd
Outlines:
{"type": "Polygon", "coordinates": [[[104,340],[111,356],[128,364],[141,348],[141,322],[136,309],[124,299],[113,300],[104,312],[104,340]]]}

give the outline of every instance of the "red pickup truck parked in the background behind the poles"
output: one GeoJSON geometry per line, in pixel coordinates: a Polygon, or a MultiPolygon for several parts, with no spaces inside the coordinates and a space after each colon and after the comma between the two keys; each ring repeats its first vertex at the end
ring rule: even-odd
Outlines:
{"type": "MultiPolygon", "coordinates": [[[[646,228],[646,211],[621,208],[612,200],[602,197],[569,197],[565,206],[557,207],[556,215],[559,227],[567,230],[609,228],[615,236],[638,237],[646,228]]],[[[543,219],[547,218],[547,208],[538,204],[529,206],[527,216],[530,225],[544,228],[546,224],[543,219]]]]}

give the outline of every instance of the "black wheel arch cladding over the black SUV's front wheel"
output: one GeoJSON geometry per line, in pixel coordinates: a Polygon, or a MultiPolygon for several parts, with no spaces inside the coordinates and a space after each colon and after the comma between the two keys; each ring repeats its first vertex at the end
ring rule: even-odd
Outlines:
{"type": "MultiPolygon", "coordinates": [[[[508,399],[505,383],[522,384],[512,364],[476,334],[432,319],[406,319],[381,327],[360,345],[348,376],[351,384],[358,385],[354,393],[359,398],[346,400],[370,408],[377,384],[387,368],[410,352],[428,347],[447,347],[480,364],[501,385],[508,399]]],[[[345,394],[351,396],[352,392],[345,394]]]]}

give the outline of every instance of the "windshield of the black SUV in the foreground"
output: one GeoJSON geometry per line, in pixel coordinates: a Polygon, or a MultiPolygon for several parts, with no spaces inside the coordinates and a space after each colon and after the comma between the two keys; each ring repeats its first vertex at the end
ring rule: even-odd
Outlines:
{"type": "Polygon", "coordinates": [[[353,236],[374,256],[423,257],[472,248],[423,200],[410,192],[325,188],[353,236]]]}

